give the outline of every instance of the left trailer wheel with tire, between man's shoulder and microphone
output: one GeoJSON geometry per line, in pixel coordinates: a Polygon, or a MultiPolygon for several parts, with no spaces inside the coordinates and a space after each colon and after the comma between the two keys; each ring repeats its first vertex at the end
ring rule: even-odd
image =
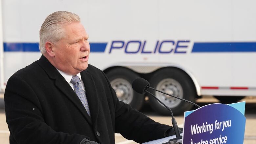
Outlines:
{"type": "Polygon", "coordinates": [[[106,72],[106,75],[112,88],[116,91],[119,101],[129,104],[139,111],[144,103],[144,95],[132,89],[132,82],[139,75],[126,68],[114,68],[106,72]]]}

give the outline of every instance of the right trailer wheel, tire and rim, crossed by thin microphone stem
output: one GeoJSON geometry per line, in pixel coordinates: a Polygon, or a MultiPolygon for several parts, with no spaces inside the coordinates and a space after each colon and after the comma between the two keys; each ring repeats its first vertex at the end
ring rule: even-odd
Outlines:
{"type": "MultiPolygon", "coordinates": [[[[176,68],[163,68],[156,71],[151,80],[150,86],[160,91],[173,94],[183,99],[194,102],[196,98],[196,90],[194,83],[190,77],[183,71],[176,68]]],[[[189,111],[193,107],[192,104],[181,101],[177,98],[150,90],[151,93],[156,95],[165,105],[167,105],[174,115],[189,111]]],[[[160,102],[152,96],[149,96],[151,107],[161,115],[170,115],[170,112],[160,102]]]]}

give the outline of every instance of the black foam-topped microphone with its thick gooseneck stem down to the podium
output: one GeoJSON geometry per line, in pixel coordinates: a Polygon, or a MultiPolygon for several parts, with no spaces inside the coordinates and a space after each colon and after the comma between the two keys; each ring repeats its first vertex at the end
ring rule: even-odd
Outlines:
{"type": "Polygon", "coordinates": [[[176,135],[176,138],[175,139],[181,139],[182,136],[180,134],[180,131],[178,129],[178,124],[173,116],[173,113],[172,113],[172,110],[167,107],[163,102],[161,102],[154,94],[150,93],[147,91],[147,89],[149,88],[149,82],[143,78],[136,78],[133,83],[132,83],[132,88],[135,92],[137,93],[140,93],[140,94],[144,94],[144,93],[148,93],[150,94],[151,96],[153,96],[156,100],[158,100],[162,105],[164,105],[171,113],[171,116],[172,116],[172,125],[173,125],[173,129],[174,129],[174,132],[175,132],[175,135],[176,135]]]}

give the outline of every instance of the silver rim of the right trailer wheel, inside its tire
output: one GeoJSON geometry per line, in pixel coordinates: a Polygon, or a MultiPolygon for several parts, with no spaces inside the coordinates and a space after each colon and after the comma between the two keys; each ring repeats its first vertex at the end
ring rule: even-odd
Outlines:
{"type": "MultiPolygon", "coordinates": [[[[174,96],[183,98],[183,90],[182,90],[181,84],[174,79],[166,78],[166,79],[161,80],[158,83],[156,89],[163,91],[165,93],[169,93],[174,96]]],[[[169,108],[175,108],[181,103],[180,99],[177,99],[175,97],[171,97],[169,95],[165,95],[165,94],[159,93],[159,92],[156,92],[156,97],[159,98],[169,108]]],[[[162,104],[160,104],[160,105],[162,105],[162,104]]]]}

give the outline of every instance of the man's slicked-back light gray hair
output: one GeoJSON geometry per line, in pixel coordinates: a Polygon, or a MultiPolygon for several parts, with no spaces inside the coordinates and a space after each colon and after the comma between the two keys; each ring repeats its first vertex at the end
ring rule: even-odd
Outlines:
{"type": "Polygon", "coordinates": [[[54,43],[64,37],[64,24],[73,22],[80,22],[80,17],[69,11],[56,11],[47,16],[39,32],[39,50],[41,53],[43,54],[46,52],[45,43],[47,41],[54,43]]]}

